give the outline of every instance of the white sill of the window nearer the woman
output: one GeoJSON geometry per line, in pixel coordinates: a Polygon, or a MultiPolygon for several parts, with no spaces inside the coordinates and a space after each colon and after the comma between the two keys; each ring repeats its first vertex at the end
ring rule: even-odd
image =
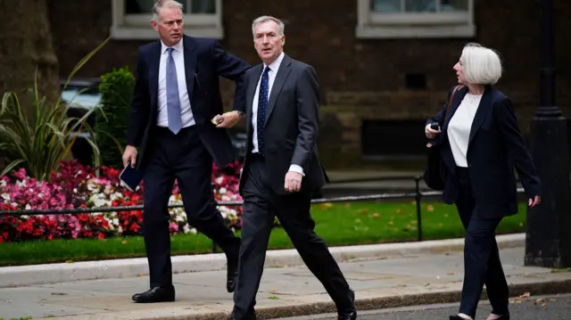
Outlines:
{"type": "Polygon", "coordinates": [[[361,39],[476,37],[473,24],[459,26],[358,26],[356,37],[361,39]]]}

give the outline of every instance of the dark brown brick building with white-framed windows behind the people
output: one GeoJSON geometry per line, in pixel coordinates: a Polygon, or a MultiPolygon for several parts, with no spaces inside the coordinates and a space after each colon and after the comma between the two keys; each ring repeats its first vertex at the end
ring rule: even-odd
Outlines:
{"type": "MultiPolygon", "coordinates": [[[[318,71],[322,96],[319,149],[327,168],[378,167],[423,154],[423,123],[455,84],[463,45],[498,50],[505,73],[498,87],[517,103],[526,133],[539,103],[538,1],[513,0],[183,0],[186,33],[216,37],[252,64],[252,19],[285,21],[285,52],[318,71]]],[[[571,85],[571,2],[554,0],[557,103],[567,117],[571,85]],[[567,19],[566,19],[567,18],[567,19]]],[[[156,38],[145,13],[153,0],[50,1],[62,77],[106,37],[112,41],[79,72],[99,77],[134,70],[137,46],[156,38]]],[[[230,105],[232,88],[225,79],[230,105]]],[[[413,161],[414,162],[414,161],[413,161]]]]}

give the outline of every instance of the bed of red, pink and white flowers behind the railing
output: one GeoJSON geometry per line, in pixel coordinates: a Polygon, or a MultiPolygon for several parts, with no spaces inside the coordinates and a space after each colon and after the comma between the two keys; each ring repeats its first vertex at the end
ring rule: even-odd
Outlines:
{"type": "MultiPolygon", "coordinates": [[[[229,168],[232,174],[219,173],[212,168],[214,196],[217,201],[241,201],[238,181],[241,165],[236,162],[229,168]]],[[[53,172],[49,182],[37,181],[26,176],[21,168],[12,177],[0,178],[0,209],[94,209],[93,213],[59,214],[43,216],[0,217],[0,242],[27,240],[53,240],[75,238],[100,238],[113,235],[141,234],[143,210],[97,212],[97,208],[143,204],[144,185],[130,192],[120,184],[120,171],[101,168],[100,176],[95,168],[83,167],[77,161],[62,162],[60,170],[53,172]]],[[[181,204],[181,195],[175,183],[170,204],[181,204]]],[[[239,229],[242,206],[219,206],[228,226],[239,229]]],[[[170,209],[170,232],[195,233],[186,221],[185,210],[170,209]]]]}

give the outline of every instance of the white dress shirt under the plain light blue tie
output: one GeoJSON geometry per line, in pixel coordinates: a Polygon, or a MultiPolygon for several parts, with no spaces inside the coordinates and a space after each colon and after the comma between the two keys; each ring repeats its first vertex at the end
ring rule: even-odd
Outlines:
{"type": "MultiPolygon", "coordinates": [[[[186,90],[186,74],[185,74],[185,54],[182,39],[177,45],[173,45],[172,59],[177,67],[178,80],[178,98],[180,99],[180,114],[182,117],[182,127],[190,127],[194,125],[193,111],[190,108],[190,99],[186,90]]],[[[169,59],[169,47],[161,41],[161,61],[159,64],[159,114],[157,117],[157,126],[169,127],[169,114],[167,109],[167,59],[169,59]]]]}

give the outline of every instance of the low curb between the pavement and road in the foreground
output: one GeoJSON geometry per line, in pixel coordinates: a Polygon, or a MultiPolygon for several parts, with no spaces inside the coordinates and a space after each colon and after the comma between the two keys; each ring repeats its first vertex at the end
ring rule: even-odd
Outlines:
{"type": "MultiPolygon", "coordinates": [[[[571,279],[566,280],[552,280],[547,282],[535,283],[518,283],[509,284],[509,297],[510,299],[516,298],[529,292],[530,295],[540,296],[557,293],[571,292],[571,279]]],[[[430,293],[409,294],[402,296],[390,296],[381,298],[370,299],[356,299],[355,305],[358,313],[360,311],[385,309],[385,308],[402,308],[420,305],[432,305],[443,303],[458,303],[460,300],[461,291],[434,291],[430,293]]],[[[485,291],[482,294],[482,299],[487,299],[485,291]]],[[[256,310],[256,318],[258,320],[269,320],[276,318],[284,318],[290,316],[313,316],[313,315],[327,315],[335,314],[336,308],[334,302],[319,302],[304,305],[294,305],[275,308],[260,308],[256,310]]],[[[117,315],[107,314],[87,314],[77,316],[56,316],[54,320],[111,320],[117,319],[117,315]]],[[[184,315],[184,316],[136,316],[129,317],[129,319],[137,320],[228,320],[229,312],[209,312],[203,314],[184,315]]],[[[123,317],[120,317],[123,318],[123,317]]],[[[35,318],[39,319],[39,318],[35,318]]]]}

